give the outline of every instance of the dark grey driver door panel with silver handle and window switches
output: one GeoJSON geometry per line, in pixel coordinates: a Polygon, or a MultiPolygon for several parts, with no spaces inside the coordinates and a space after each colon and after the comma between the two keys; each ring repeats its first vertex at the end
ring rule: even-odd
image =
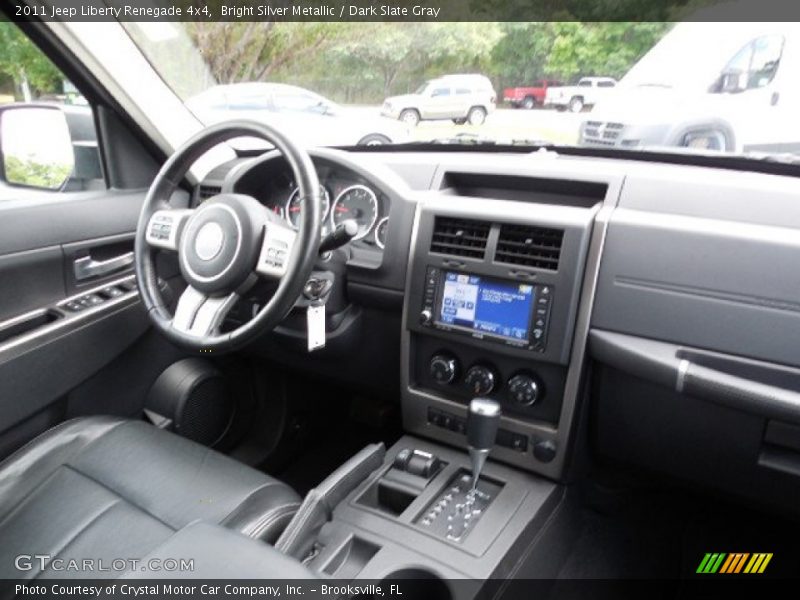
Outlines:
{"type": "Polygon", "coordinates": [[[143,198],[26,190],[0,203],[0,456],[60,421],[59,401],[146,331],[132,262],[81,278],[75,269],[133,250],[143,198]],[[102,301],[71,309],[90,295],[102,301]]]}

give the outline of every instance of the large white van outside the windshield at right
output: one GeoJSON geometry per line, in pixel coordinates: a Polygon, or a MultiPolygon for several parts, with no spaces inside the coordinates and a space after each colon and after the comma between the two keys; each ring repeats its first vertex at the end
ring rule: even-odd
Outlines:
{"type": "Polygon", "coordinates": [[[598,102],[580,143],[796,152],[798,101],[800,24],[679,23],[598,102]]]}

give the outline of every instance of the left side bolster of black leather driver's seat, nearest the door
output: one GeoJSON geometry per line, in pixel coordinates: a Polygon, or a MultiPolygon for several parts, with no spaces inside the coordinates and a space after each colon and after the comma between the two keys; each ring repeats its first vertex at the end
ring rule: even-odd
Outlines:
{"type": "Polygon", "coordinates": [[[124,422],[105,416],[65,421],[0,462],[0,519],[59,467],[124,422]]]}

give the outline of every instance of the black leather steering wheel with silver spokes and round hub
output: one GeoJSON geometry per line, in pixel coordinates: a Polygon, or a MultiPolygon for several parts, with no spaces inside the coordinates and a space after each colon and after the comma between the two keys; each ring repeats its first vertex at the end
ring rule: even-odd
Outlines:
{"type": "Polygon", "coordinates": [[[292,309],[311,274],[319,249],[321,205],[314,163],[277,129],[228,121],[192,137],[156,175],[136,228],[136,281],[153,325],[184,348],[214,353],[234,350],[272,331],[292,309]],[[296,231],[244,194],[217,194],[195,209],[170,206],[192,164],[217,144],[240,136],[269,142],[289,163],[302,199],[296,231]],[[188,284],[174,315],[159,290],[156,251],[177,253],[188,284]],[[272,297],[250,321],[220,333],[230,309],[259,279],[277,281],[272,297]]]}

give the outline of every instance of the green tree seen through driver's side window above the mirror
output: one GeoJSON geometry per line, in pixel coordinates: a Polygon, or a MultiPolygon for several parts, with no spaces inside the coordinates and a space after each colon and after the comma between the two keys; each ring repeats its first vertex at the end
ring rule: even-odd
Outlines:
{"type": "Polygon", "coordinates": [[[0,73],[9,77],[24,100],[31,91],[38,94],[60,92],[63,76],[19,28],[0,21],[0,73]]]}

